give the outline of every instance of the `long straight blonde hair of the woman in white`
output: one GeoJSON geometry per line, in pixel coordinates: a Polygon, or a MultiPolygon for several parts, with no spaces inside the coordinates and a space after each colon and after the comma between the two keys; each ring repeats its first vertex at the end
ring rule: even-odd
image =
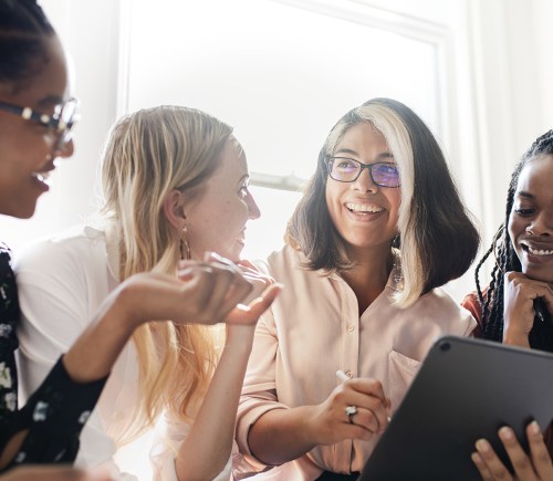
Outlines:
{"type": "MultiPolygon", "coordinates": [[[[231,134],[217,118],[178,106],[142,109],[115,124],[103,156],[102,212],[116,226],[119,281],[145,271],[176,274],[180,237],[164,215],[164,200],[175,189],[198,196],[231,134]]],[[[215,339],[205,326],[146,323],[133,341],[140,400],[118,442],[150,426],[164,408],[186,419],[217,362],[215,339]]]]}

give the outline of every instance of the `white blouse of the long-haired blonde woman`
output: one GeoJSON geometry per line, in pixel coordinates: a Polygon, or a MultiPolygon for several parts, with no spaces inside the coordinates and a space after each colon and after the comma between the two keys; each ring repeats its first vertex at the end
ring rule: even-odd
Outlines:
{"type": "MultiPolygon", "coordinates": [[[[22,311],[20,390],[24,401],[60,355],[85,330],[100,304],[118,284],[113,229],[80,227],[25,249],[15,262],[22,311]]],[[[116,480],[176,481],[175,454],[189,431],[182,421],[159,422],[125,447],[118,442],[138,399],[138,363],[132,342],[115,363],[81,435],[75,464],[107,466],[116,480]],[[155,439],[148,466],[149,442],[155,439]],[[126,460],[126,461],[125,461],[126,460]]],[[[230,478],[230,460],[217,480],[230,478]]]]}

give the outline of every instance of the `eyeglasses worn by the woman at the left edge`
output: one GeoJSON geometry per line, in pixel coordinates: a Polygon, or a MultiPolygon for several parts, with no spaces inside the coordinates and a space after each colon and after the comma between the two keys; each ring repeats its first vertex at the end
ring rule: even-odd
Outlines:
{"type": "Polygon", "coordinates": [[[79,114],[76,113],[79,101],[70,98],[63,104],[55,106],[55,112],[52,115],[42,114],[41,112],[33,111],[30,107],[20,107],[19,105],[0,102],[0,109],[11,114],[19,115],[25,121],[36,122],[53,130],[56,136],[54,149],[60,150],[65,144],[71,140],[72,130],[79,122],[79,114]]]}

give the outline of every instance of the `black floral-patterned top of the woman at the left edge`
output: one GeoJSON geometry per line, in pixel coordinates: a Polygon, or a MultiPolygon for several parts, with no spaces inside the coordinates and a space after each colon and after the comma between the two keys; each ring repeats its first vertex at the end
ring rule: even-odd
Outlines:
{"type": "Polygon", "coordinates": [[[8,247],[0,242],[0,452],[15,432],[28,430],[19,451],[0,472],[25,463],[71,463],[79,436],[107,378],[80,384],[58,360],[25,406],[18,410],[15,327],[20,311],[8,247]]]}

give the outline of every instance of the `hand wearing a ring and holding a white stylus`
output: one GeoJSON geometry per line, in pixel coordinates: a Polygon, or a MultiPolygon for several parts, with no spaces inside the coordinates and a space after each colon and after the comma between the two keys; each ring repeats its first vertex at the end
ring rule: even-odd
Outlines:
{"type": "Polygon", "coordinates": [[[342,383],[325,401],[313,407],[309,422],[316,432],[314,445],[328,446],[345,439],[371,440],[388,426],[389,405],[376,379],[358,377],[342,383]],[[357,412],[348,416],[348,406],[355,406],[357,412]]]}

